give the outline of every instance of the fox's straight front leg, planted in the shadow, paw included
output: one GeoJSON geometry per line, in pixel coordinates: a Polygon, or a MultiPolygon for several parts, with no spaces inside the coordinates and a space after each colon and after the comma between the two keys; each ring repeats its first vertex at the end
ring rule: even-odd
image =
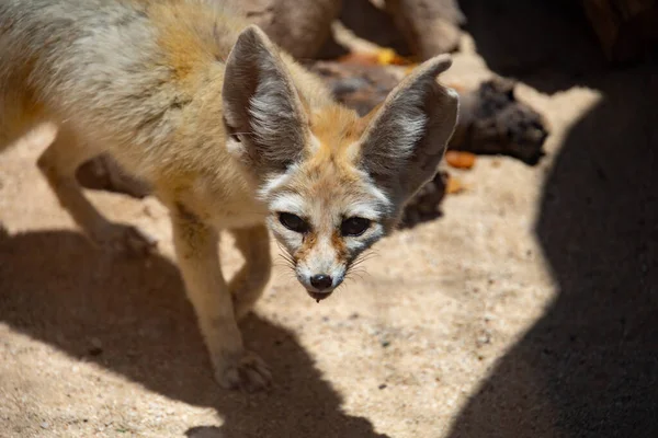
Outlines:
{"type": "Polygon", "coordinates": [[[172,215],[173,242],[217,382],[227,389],[257,391],[270,384],[266,365],[245,350],[231,295],[219,266],[217,232],[183,207],[172,215]]]}

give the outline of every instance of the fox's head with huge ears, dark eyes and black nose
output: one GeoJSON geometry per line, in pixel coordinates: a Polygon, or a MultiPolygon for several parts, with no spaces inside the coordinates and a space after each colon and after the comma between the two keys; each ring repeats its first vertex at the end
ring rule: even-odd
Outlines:
{"type": "Polygon", "coordinates": [[[436,82],[450,66],[446,56],[426,61],[360,118],[317,99],[258,27],[239,35],[223,90],[227,147],[253,175],[269,227],[315,299],[434,176],[457,119],[457,93],[436,82]]]}

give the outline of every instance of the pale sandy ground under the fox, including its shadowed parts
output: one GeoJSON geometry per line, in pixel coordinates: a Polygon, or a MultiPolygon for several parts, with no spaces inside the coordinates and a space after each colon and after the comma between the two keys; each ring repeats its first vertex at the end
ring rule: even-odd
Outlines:
{"type": "MultiPolygon", "coordinates": [[[[449,79],[491,74],[489,48],[449,79]]],[[[519,92],[552,125],[540,165],[479,158],[443,218],[382,241],[320,304],[276,268],[243,324],[266,394],[212,380],[155,199],[88,192],[160,240],[113,260],[36,170],[43,141],[11,149],[0,437],[658,436],[657,70],[555,70],[519,92]]],[[[240,258],[222,246],[230,274],[240,258]]]]}

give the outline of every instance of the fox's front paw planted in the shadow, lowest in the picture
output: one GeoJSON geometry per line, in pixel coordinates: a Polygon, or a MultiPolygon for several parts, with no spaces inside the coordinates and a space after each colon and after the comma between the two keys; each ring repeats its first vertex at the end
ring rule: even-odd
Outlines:
{"type": "Polygon", "coordinates": [[[272,384],[270,368],[251,351],[245,351],[234,364],[216,367],[215,379],[222,388],[242,389],[248,392],[262,391],[272,384]]]}

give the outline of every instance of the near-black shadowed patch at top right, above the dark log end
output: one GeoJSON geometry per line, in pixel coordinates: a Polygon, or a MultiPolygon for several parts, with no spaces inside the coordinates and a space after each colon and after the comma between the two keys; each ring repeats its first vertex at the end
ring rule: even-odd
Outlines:
{"type": "Polygon", "coordinates": [[[460,0],[464,30],[496,73],[545,93],[582,83],[606,68],[603,51],[572,0],[460,0]]]}

